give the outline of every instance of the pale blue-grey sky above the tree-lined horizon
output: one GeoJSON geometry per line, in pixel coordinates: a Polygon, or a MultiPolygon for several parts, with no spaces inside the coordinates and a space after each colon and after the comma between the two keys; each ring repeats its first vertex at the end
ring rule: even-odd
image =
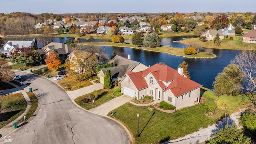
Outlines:
{"type": "Polygon", "coordinates": [[[0,13],[256,12],[256,0],[1,0],[0,13]]]}

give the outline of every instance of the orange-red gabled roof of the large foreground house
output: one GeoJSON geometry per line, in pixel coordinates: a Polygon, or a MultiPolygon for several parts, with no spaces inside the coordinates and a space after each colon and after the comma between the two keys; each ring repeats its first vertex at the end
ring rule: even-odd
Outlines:
{"type": "Polygon", "coordinates": [[[126,72],[137,90],[148,87],[144,77],[150,73],[154,76],[158,85],[163,90],[165,89],[164,92],[171,90],[176,97],[202,86],[193,80],[181,76],[177,70],[163,64],[155,64],[140,72],[126,72]],[[164,82],[170,82],[170,84],[166,86],[164,82]]]}

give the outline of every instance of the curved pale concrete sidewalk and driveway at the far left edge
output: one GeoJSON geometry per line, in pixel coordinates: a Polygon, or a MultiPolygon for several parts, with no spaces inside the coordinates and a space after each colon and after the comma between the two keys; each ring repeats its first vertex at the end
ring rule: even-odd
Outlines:
{"type": "MultiPolygon", "coordinates": [[[[4,82],[6,82],[6,81],[4,81],[4,82]]],[[[29,91],[29,88],[26,85],[19,87],[12,82],[6,82],[6,83],[11,84],[12,86],[15,86],[15,88],[12,88],[9,90],[4,90],[4,95],[21,92],[27,102],[27,107],[26,107],[25,111],[18,118],[16,118],[14,121],[10,122],[9,124],[7,124],[6,126],[4,126],[0,129],[0,142],[3,140],[4,136],[8,136],[10,133],[12,133],[18,129],[18,128],[14,129],[14,122],[18,122],[18,120],[22,119],[23,115],[25,115],[28,112],[28,110],[30,109],[30,105],[31,105],[30,98],[28,97],[28,94],[26,93],[29,91]]],[[[22,124],[18,124],[18,127],[21,125],[22,124]]]]}

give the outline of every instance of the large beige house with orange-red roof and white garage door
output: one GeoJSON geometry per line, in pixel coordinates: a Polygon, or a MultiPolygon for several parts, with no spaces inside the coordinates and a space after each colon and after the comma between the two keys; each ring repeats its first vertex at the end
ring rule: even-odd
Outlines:
{"type": "Polygon", "coordinates": [[[182,71],[155,64],[140,72],[126,72],[120,82],[121,92],[137,99],[153,96],[154,100],[168,102],[176,109],[193,106],[200,101],[202,85],[183,76],[182,71]]]}

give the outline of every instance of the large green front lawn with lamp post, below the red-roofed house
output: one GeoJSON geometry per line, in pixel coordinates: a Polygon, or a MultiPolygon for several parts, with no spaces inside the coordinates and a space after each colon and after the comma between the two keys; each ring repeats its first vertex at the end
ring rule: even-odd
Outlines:
{"type": "MultiPolygon", "coordinates": [[[[117,120],[122,122],[132,134],[134,144],[154,144],[173,140],[187,134],[205,128],[210,124],[220,120],[225,113],[231,114],[238,108],[244,107],[248,99],[243,101],[243,96],[220,96],[220,100],[228,106],[227,109],[219,109],[218,115],[210,118],[204,114],[209,106],[216,106],[216,96],[214,92],[207,90],[202,97],[204,102],[181,110],[172,114],[156,110],[153,106],[134,106],[126,103],[113,110],[117,120]],[[137,114],[139,117],[139,134],[137,136],[137,114]]],[[[110,113],[108,116],[111,116],[110,113]]]]}

